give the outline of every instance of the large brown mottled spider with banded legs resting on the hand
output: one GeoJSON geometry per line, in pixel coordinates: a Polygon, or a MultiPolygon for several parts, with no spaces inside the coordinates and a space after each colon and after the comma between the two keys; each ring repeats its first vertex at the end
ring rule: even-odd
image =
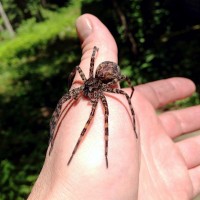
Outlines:
{"type": "MultiPolygon", "coordinates": [[[[106,100],[106,97],[104,95],[104,92],[110,92],[110,93],[117,93],[117,94],[122,94],[126,97],[132,118],[133,118],[133,130],[135,132],[135,137],[136,139],[138,138],[137,132],[136,132],[136,127],[135,127],[135,112],[133,110],[133,106],[131,103],[131,97],[134,92],[133,86],[131,86],[131,81],[129,78],[126,76],[122,75],[120,73],[120,68],[119,66],[111,61],[104,61],[99,64],[97,67],[95,76],[93,76],[94,72],[94,61],[95,61],[95,54],[98,52],[98,48],[94,46],[92,56],[91,56],[91,61],[90,61],[90,71],[89,71],[89,78],[87,79],[85,74],[83,73],[82,69],[77,66],[75,68],[75,71],[73,71],[70,75],[71,80],[74,78],[76,71],[79,72],[81,79],[83,80],[84,84],[81,85],[78,88],[71,89],[68,93],[64,94],[64,96],[59,100],[57,107],[52,115],[51,121],[50,121],[50,150],[49,150],[49,155],[53,149],[54,141],[56,138],[56,135],[58,133],[59,127],[61,125],[61,122],[63,119],[60,120],[61,115],[65,111],[66,107],[62,109],[63,103],[70,99],[77,100],[81,95],[85,96],[87,99],[92,104],[92,109],[89,115],[89,118],[82,129],[82,132],[79,136],[79,139],[72,151],[71,157],[69,158],[69,161],[67,165],[70,164],[74,154],[76,153],[83,136],[85,135],[88,126],[90,125],[90,122],[92,118],[94,117],[94,113],[97,107],[97,104],[99,100],[101,100],[103,107],[104,107],[104,114],[105,114],[105,160],[106,160],[106,167],[108,168],[108,136],[109,136],[109,129],[108,129],[108,116],[109,116],[109,109],[108,109],[108,103],[106,100]],[[118,82],[121,81],[127,81],[129,86],[132,88],[131,95],[129,96],[126,92],[124,92],[121,89],[114,88],[113,86],[116,86],[118,82]],[[60,122],[59,122],[60,121],[60,122]],[[59,122],[59,123],[58,123],[59,122]],[[57,130],[56,130],[57,128],[57,130]],[[56,130],[56,131],[55,131],[56,130]]],[[[71,81],[72,83],[72,81],[71,81]]],[[[64,115],[65,117],[65,115],[64,115]]]]}

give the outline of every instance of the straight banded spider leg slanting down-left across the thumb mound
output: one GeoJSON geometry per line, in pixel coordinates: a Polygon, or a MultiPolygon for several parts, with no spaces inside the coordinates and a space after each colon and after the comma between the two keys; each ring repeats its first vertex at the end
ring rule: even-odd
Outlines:
{"type": "Polygon", "coordinates": [[[71,162],[71,160],[72,160],[74,154],[76,153],[76,151],[77,151],[77,149],[78,149],[78,147],[79,147],[79,145],[80,145],[80,142],[81,142],[82,139],[83,139],[83,136],[85,135],[85,133],[86,133],[86,131],[87,131],[87,128],[88,128],[88,126],[89,126],[91,120],[92,120],[93,117],[94,117],[94,113],[95,113],[95,110],[96,110],[96,107],[97,107],[97,103],[98,103],[98,101],[96,101],[96,102],[94,102],[94,103],[92,104],[92,110],[91,110],[91,112],[90,112],[90,116],[89,116],[89,118],[88,118],[88,120],[87,120],[87,122],[86,122],[86,124],[85,124],[85,126],[84,126],[84,128],[83,128],[83,130],[82,130],[82,132],[81,132],[81,134],[80,134],[80,136],[79,136],[79,139],[78,139],[78,141],[77,141],[77,143],[76,143],[76,145],[75,145],[75,147],[74,147],[74,149],[73,149],[72,155],[71,155],[71,157],[70,157],[70,159],[69,159],[67,165],[70,164],[70,162],[71,162]]]}

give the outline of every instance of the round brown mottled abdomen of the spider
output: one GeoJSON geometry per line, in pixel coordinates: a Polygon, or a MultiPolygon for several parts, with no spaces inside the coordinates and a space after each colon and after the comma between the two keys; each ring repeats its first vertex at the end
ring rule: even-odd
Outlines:
{"type": "Polygon", "coordinates": [[[116,63],[105,61],[97,67],[95,78],[101,80],[103,83],[109,83],[120,75],[120,68],[116,63]]]}

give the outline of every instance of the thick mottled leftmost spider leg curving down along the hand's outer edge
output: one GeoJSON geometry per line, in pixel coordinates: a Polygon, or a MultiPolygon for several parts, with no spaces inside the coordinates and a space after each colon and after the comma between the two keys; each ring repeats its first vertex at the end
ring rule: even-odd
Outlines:
{"type": "Polygon", "coordinates": [[[55,138],[57,136],[57,133],[58,133],[58,130],[60,128],[60,125],[65,117],[61,119],[60,123],[58,124],[59,120],[60,120],[60,117],[62,116],[63,112],[66,110],[67,106],[65,106],[65,108],[61,111],[61,108],[62,108],[62,105],[67,101],[67,100],[70,100],[71,98],[77,100],[78,99],[78,95],[80,94],[80,92],[83,90],[83,86],[81,87],[78,87],[78,88],[75,88],[75,89],[72,89],[70,90],[68,93],[64,94],[62,96],[62,98],[59,100],[58,104],[57,104],[57,107],[53,113],[53,116],[51,118],[51,121],[50,121],[50,139],[49,139],[49,143],[51,144],[51,147],[50,147],[50,150],[49,150],[49,155],[51,154],[51,151],[53,149],[53,144],[54,144],[54,141],[55,141],[55,138]],[[57,124],[58,124],[58,128],[57,128],[57,131],[55,133],[55,129],[57,127],[57,124]]]}

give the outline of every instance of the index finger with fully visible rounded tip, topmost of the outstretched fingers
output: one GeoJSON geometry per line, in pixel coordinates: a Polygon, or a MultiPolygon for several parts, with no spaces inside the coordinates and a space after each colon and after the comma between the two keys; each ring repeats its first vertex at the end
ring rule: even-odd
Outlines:
{"type": "Polygon", "coordinates": [[[190,96],[195,91],[195,85],[187,78],[169,78],[139,85],[136,90],[141,92],[154,108],[159,108],[190,96]]]}

